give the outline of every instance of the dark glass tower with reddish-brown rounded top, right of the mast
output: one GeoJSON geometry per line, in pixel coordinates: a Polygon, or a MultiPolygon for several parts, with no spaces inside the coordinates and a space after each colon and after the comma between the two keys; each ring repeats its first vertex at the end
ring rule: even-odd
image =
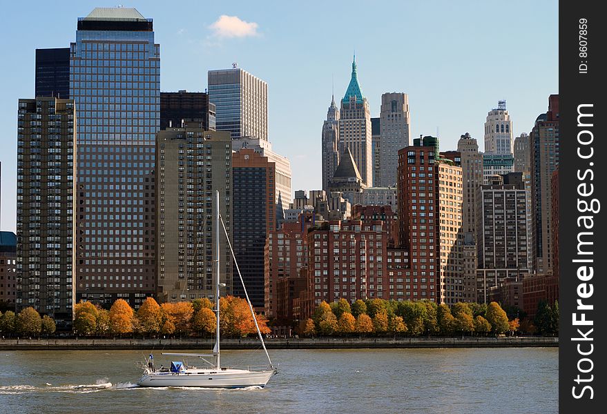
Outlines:
{"type": "MultiPolygon", "coordinates": [[[[232,243],[251,303],[259,312],[264,311],[266,237],[276,229],[275,170],[275,163],[250,148],[232,155],[232,243]]],[[[235,268],[233,293],[244,297],[235,268]]]]}

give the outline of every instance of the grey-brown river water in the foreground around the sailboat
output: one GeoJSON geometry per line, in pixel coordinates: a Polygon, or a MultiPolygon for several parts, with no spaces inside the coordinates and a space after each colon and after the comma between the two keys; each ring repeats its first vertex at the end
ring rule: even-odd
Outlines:
{"type": "MultiPolygon", "coordinates": [[[[263,389],[240,390],[139,388],[147,355],[2,351],[0,413],[527,414],[558,406],[558,348],[271,350],[279,374],[263,389]]],[[[223,351],[222,365],[264,358],[223,351]]],[[[156,366],[169,361],[155,353],[156,366]]]]}

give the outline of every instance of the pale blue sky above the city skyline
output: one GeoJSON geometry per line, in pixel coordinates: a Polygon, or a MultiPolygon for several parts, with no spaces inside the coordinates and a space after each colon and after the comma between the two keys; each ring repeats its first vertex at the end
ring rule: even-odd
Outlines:
{"type": "MultiPolygon", "coordinates": [[[[3,4],[0,38],[1,230],[15,230],[17,99],[34,95],[36,48],[67,47],[98,1],[3,4]],[[25,5],[25,6],[24,6],[25,5]]],[[[557,1],[139,1],[161,47],[161,90],[204,91],[232,62],[269,84],[269,137],[291,160],[293,190],[320,188],[320,131],[331,102],[358,79],[378,116],[383,92],[409,95],[412,137],[441,150],[479,139],[499,99],[514,135],[529,132],[558,93],[557,1]],[[220,19],[221,16],[238,19],[220,19]]]]}

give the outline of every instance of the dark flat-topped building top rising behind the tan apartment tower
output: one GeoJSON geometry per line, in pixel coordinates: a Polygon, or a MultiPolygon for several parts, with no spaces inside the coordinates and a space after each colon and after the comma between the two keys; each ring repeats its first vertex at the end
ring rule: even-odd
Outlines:
{"type": "Polygon", "coordinates": [[[198,122],[205,131],[215,130],[215,104],[204,92],[160,92],[160,129],[183,128],[198,122]]]}

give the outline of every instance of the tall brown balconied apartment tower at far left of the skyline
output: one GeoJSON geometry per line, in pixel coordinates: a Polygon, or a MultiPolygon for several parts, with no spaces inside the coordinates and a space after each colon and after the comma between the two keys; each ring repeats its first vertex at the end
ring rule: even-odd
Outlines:
{"type": "Polygon", "coordinates": [[[75,110],[72,99],[19,99],[17,311],[72,324],[75,110]]]}

